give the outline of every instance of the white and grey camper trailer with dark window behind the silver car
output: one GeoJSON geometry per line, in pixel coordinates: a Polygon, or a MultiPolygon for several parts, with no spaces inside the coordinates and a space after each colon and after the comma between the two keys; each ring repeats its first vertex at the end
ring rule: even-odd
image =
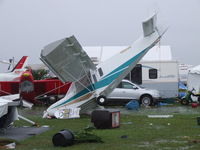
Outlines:
{"type": "Polygon", "coordinates": [[[145,88],[158,90],[161,98],[178,96],[177,61],[141,61],[126,79],[145,88]]]}

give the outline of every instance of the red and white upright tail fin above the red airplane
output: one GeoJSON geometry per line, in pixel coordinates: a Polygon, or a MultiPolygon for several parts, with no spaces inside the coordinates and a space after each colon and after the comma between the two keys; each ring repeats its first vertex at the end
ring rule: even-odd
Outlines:
{"type": "Polygon", "coordinates": [[[26,69],[27,64],[28,64],[28,56],[23,56],[11,72],[15,74],[20,74],[27,70],[26,69]]]}

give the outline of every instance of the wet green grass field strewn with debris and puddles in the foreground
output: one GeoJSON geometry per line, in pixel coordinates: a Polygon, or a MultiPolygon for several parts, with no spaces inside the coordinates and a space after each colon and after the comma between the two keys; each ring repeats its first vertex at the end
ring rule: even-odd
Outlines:
{"type": "MultiPolygon", "coordinates": [[[[89,125],[90,117],[80,119],[57,120],[42,119],[41,110],[36,108],[26,116],[40,125],[49,125],[51,130],[17,143],[18,150],[70,149],[70,150],[199,150],[200,126],[197,116],[200,107],[184,106],[144,108],[139,111],[128,111],[120,108],[120,128],[95,129],[93,132],[102,138],[104,143],[80,143],[70,147],[54,147],[52,136],[61,129],[79,131],[89,125]],[[38,112],[38,113],[37,113],[38,112]],[[148,118],[148,114],[173,114],[172,118],[148,118]],[[122,138],[125,137],[125,138],[122,138]]],[[[24,113],[24,111],[22,112],[24,113]]],[[[28,125],[17,121],[17,126],[28,125]]]]}

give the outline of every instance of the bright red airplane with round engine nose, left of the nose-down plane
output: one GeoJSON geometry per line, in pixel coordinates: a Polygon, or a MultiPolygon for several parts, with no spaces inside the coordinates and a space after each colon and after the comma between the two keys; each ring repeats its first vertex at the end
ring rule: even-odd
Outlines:
{"type": "Polygon", "coordinates": [[[19,81],[0,81],[0,96],[19,93],[22,99],[33,104],[48,104],[62,98],[70,85],[55,78],[34,80],[32,73],[25,71],[19,81]]]}

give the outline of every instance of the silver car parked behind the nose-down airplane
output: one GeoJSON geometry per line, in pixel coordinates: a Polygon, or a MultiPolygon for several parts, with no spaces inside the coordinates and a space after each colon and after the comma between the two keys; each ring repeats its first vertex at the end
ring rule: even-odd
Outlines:
{"type": "Polygon", "coordinates": [[[160,94],[157,90],[146,89],[128,80],[122,80],[107,97],[98,97],[97,103],[99,105],[106,105],[109,102],[127,103],[133,99],[138,100],[144,106],[151,106],[160,100],[160,94]]]}

